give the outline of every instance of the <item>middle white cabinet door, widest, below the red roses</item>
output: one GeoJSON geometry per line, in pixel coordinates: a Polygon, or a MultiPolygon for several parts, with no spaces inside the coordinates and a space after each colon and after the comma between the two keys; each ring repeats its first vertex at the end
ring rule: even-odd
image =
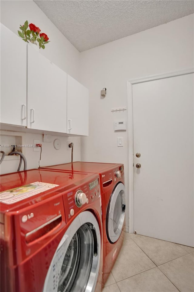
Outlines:
{"type": "Polygon", "coordinates": [[[67,74],[28,45],[28,128],[67,130],[67,74]]]}

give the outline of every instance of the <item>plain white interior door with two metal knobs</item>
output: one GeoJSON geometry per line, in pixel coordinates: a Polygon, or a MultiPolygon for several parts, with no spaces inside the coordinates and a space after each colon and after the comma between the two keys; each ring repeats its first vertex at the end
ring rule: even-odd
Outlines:
{"type": "Polygon", "coordinates": [[[132,85],[134,230],[189,246],[194,246],[193,75],[132,85]]]}

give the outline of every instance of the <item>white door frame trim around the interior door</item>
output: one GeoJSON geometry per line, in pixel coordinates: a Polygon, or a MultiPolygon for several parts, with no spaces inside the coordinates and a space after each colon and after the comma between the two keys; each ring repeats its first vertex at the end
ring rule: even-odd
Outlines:
{"type": "Polygon", "coordinates": [[[130,79],[127,81],[127,105],[128,105],[128,169],[129,169],[129,233],[134,232],[134,167],[133,167],[133,100],[132,85],[154,81],[164,78],[171,78],[180,75],[194,73],[194,67],[179,71],[172,71],[158,75],[151,75],[142,78],[130,79]]]}

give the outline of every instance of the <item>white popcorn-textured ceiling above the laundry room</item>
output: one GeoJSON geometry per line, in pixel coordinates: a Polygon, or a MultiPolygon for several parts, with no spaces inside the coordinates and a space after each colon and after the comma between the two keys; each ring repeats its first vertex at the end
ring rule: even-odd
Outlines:
{"type": "Polygon", "coordinates": [[[80,52],[194,13],[192,0],[34,0],[80,52]]]}

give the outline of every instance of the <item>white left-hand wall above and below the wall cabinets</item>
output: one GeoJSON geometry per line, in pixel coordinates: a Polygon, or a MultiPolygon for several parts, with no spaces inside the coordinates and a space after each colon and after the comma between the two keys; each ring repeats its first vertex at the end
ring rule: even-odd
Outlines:
{"type": "MultiPolygon", "coordinates": [[[[50,43],[45,46],[45,50],[41,49],[40,53],[79,81],[79,51],[53,25],[35,2],[31,0],[1,1],[0,5],[1,22],[16,35],[18,35],[19,26],[23,25],[26,20],[28,20],[28,23],[34,23],[42,32],[45,32],[50,43]]],[[[14,131],[14,128],[12,130],[14,131]]],[[[42,166],[71,161],[71,151],[67,150],[66,141],[74,143],[74,161],[81,159],[80,137],[52,136],[52,142],[44,143],[41,134],[26,133],[24,139],[25,143],[22,141],[22,144],[34,144],[34,139],[40,140],[40,143],[42,143],[42,166]],[[62,142],[60,150],[55,150],[53,147],[55,138],[59,138],[62,142]]],[[[28,169],[38,167],[39,152],[34,152],[32,148],[25,148],[25,156],[28,169]]],[[[18,161],[3,161],[1,173],[17,171],[17,168],[18,161]]]]}

